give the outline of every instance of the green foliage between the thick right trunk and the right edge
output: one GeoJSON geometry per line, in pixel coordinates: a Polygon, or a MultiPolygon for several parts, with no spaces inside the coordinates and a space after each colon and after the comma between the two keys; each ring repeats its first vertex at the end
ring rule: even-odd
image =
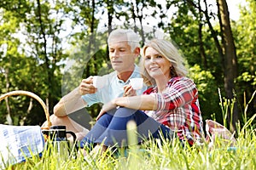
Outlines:
{"type": "MultiPolygon", "coordinates": [[[[244,102],[253,95],[256,88],[256,2],[247,0],[247,5],[242,5],[240,19],[232,23],[232,31],[236,42],[236,54],[239,64],[238,77],[236,78],[236,94],[241,110],[244,102]]],[[[247,116],[255,114],[255,101],[249,105],[247,116]]]]}

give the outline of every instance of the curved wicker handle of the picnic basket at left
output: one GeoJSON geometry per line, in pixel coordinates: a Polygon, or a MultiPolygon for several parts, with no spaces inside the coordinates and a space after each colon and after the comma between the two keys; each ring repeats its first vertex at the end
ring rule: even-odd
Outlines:
{"type": "Polygon", "coordinates": [[[8,98],[9,96],[13,96],[13,95],[27,95],[27,96],[32,97],[33,99],[38,100],[40,105],[42,105],[42,107],[44,108],[44,113],[45,113],[46,120],[47,120],[47,123],[48,123],[48,128],[51,126],[51,122],[49,120],[49,111],[47,110],[47,107],[44,104],[43,99],[39,98],[37,94],[33,94],[32,92],[28,92],[28,91],[24,91],[24,90],[15,90],[15,91],[11,91],[11,92],[6,93],[6,94],[2,94],[0,96],[0,101],[5,99],[5,98],[8,98]]]}

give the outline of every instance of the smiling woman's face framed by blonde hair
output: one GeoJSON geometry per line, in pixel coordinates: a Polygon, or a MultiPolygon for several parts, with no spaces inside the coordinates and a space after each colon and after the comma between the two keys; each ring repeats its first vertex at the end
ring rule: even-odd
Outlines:
{"type": "Polygon", "coordinates": [[[157,52],[154,48],[146,48],[144,60],[144,66],[150,77],[157,79],[163,78],[163,76],[165,76],[168,80],[171,78],[171,62],[159,52],[157,52]]]}

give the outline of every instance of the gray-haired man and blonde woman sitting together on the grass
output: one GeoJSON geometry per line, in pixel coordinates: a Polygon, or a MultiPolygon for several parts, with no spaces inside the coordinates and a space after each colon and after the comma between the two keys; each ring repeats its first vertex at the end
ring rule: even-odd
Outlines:
{"type": "Polygon", "coordinates": [[[89,77],[71,92],[73,95],[67,94],[55,106],[51,121],[55,124],[65,119],[67,130],[78,134],[82,147],[98,144],[106,150],[109,146],[123,146],[127,142],[126,124],[131,120],[137,124],[138,143],[149,134],[158,139],[160,133],[166,139],[172,139],[176,133],[178,139],[190,145],[204,138],[198,91],[195,83],[186,77],[187,70],[178,49],[164,39],[151,40],[143,48],[140,74],[134,64],[140,54],[138,39],[133,31],[113,31],[108,46],[115,71],[108,75],[108,86],[96,89],[92,85],[93,77],[89,77]],[[129,85],[132,77],[143,77],[150,88],[143,94],[134,90],[129,85]],[[77,105],[89,106],[95,102],[104,104],[102,111],[90,132],[83,132],[67,114],[77,105]]]}

